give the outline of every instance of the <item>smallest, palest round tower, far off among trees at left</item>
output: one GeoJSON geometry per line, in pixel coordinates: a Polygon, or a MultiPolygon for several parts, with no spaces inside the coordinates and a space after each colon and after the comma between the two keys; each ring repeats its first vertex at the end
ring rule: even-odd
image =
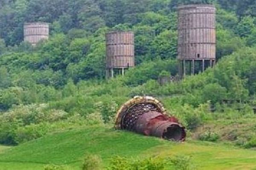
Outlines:
{"type": "Polygon", "coordinates": [[[24,41],[35,46],[41,40],[49,38],[48,23],[25,23],[24,24],[24,41]]]}

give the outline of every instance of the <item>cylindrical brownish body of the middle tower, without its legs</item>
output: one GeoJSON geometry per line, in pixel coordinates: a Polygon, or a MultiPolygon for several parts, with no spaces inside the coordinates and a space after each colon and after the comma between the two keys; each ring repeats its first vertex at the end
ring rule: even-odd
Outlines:
{"type": "Polygon", "coordinates": [[[134,67],[134,33],[109,32],[106,34],[107,69],[134,67]]]}

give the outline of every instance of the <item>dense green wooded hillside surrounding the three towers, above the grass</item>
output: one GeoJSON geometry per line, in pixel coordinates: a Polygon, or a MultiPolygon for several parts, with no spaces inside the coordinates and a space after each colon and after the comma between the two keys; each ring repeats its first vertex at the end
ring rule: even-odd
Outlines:
{"type": "MultiPolygon", "coordinates": [[[[255,0],[0,0],[0,38],[0,144],[111,123],[135,95],[159,97],[188,130],[215,119],[254,118],[255,0]],[[178,72],[176,10],[190,3],[217,8],[218,64],[160,86],[160,74],[178,72]],[[23,42],[23,24],[34,21],[50,23],[50,39],[35,48],[23,42]],[[134,31],[137,67],[105,80],[111,30],[134,31]]],[[[256,145],[253,136],[242,136],[241,145],[256,145]]]]}

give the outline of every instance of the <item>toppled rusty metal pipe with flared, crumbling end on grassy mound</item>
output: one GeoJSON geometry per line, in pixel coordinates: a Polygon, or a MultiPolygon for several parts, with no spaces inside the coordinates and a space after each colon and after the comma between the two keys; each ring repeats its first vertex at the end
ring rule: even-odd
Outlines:
{"type": "Polygon", "coordinates": [[[168,116],[163,105],[150,96],[136,96],[122,105],[116,115],[116,129],[176,142],[186,138],[185,127],[174,116],[168,116]]]}

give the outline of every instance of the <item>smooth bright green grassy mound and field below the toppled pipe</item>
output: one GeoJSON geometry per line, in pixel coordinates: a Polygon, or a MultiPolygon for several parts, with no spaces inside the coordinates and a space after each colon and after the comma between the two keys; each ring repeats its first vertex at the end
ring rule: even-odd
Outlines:
{"type": "Polygon", "coordinates": [[[66,165],[79,170],[85,153],[101,156],[105,165],[115,155],[189,155],[199,170],[256,170],[254,150],[209,142],[175,144],[106,127],[52,133],[17,147],[0,146],[0,170],[43,170],[45,164],[66,165]]]}

